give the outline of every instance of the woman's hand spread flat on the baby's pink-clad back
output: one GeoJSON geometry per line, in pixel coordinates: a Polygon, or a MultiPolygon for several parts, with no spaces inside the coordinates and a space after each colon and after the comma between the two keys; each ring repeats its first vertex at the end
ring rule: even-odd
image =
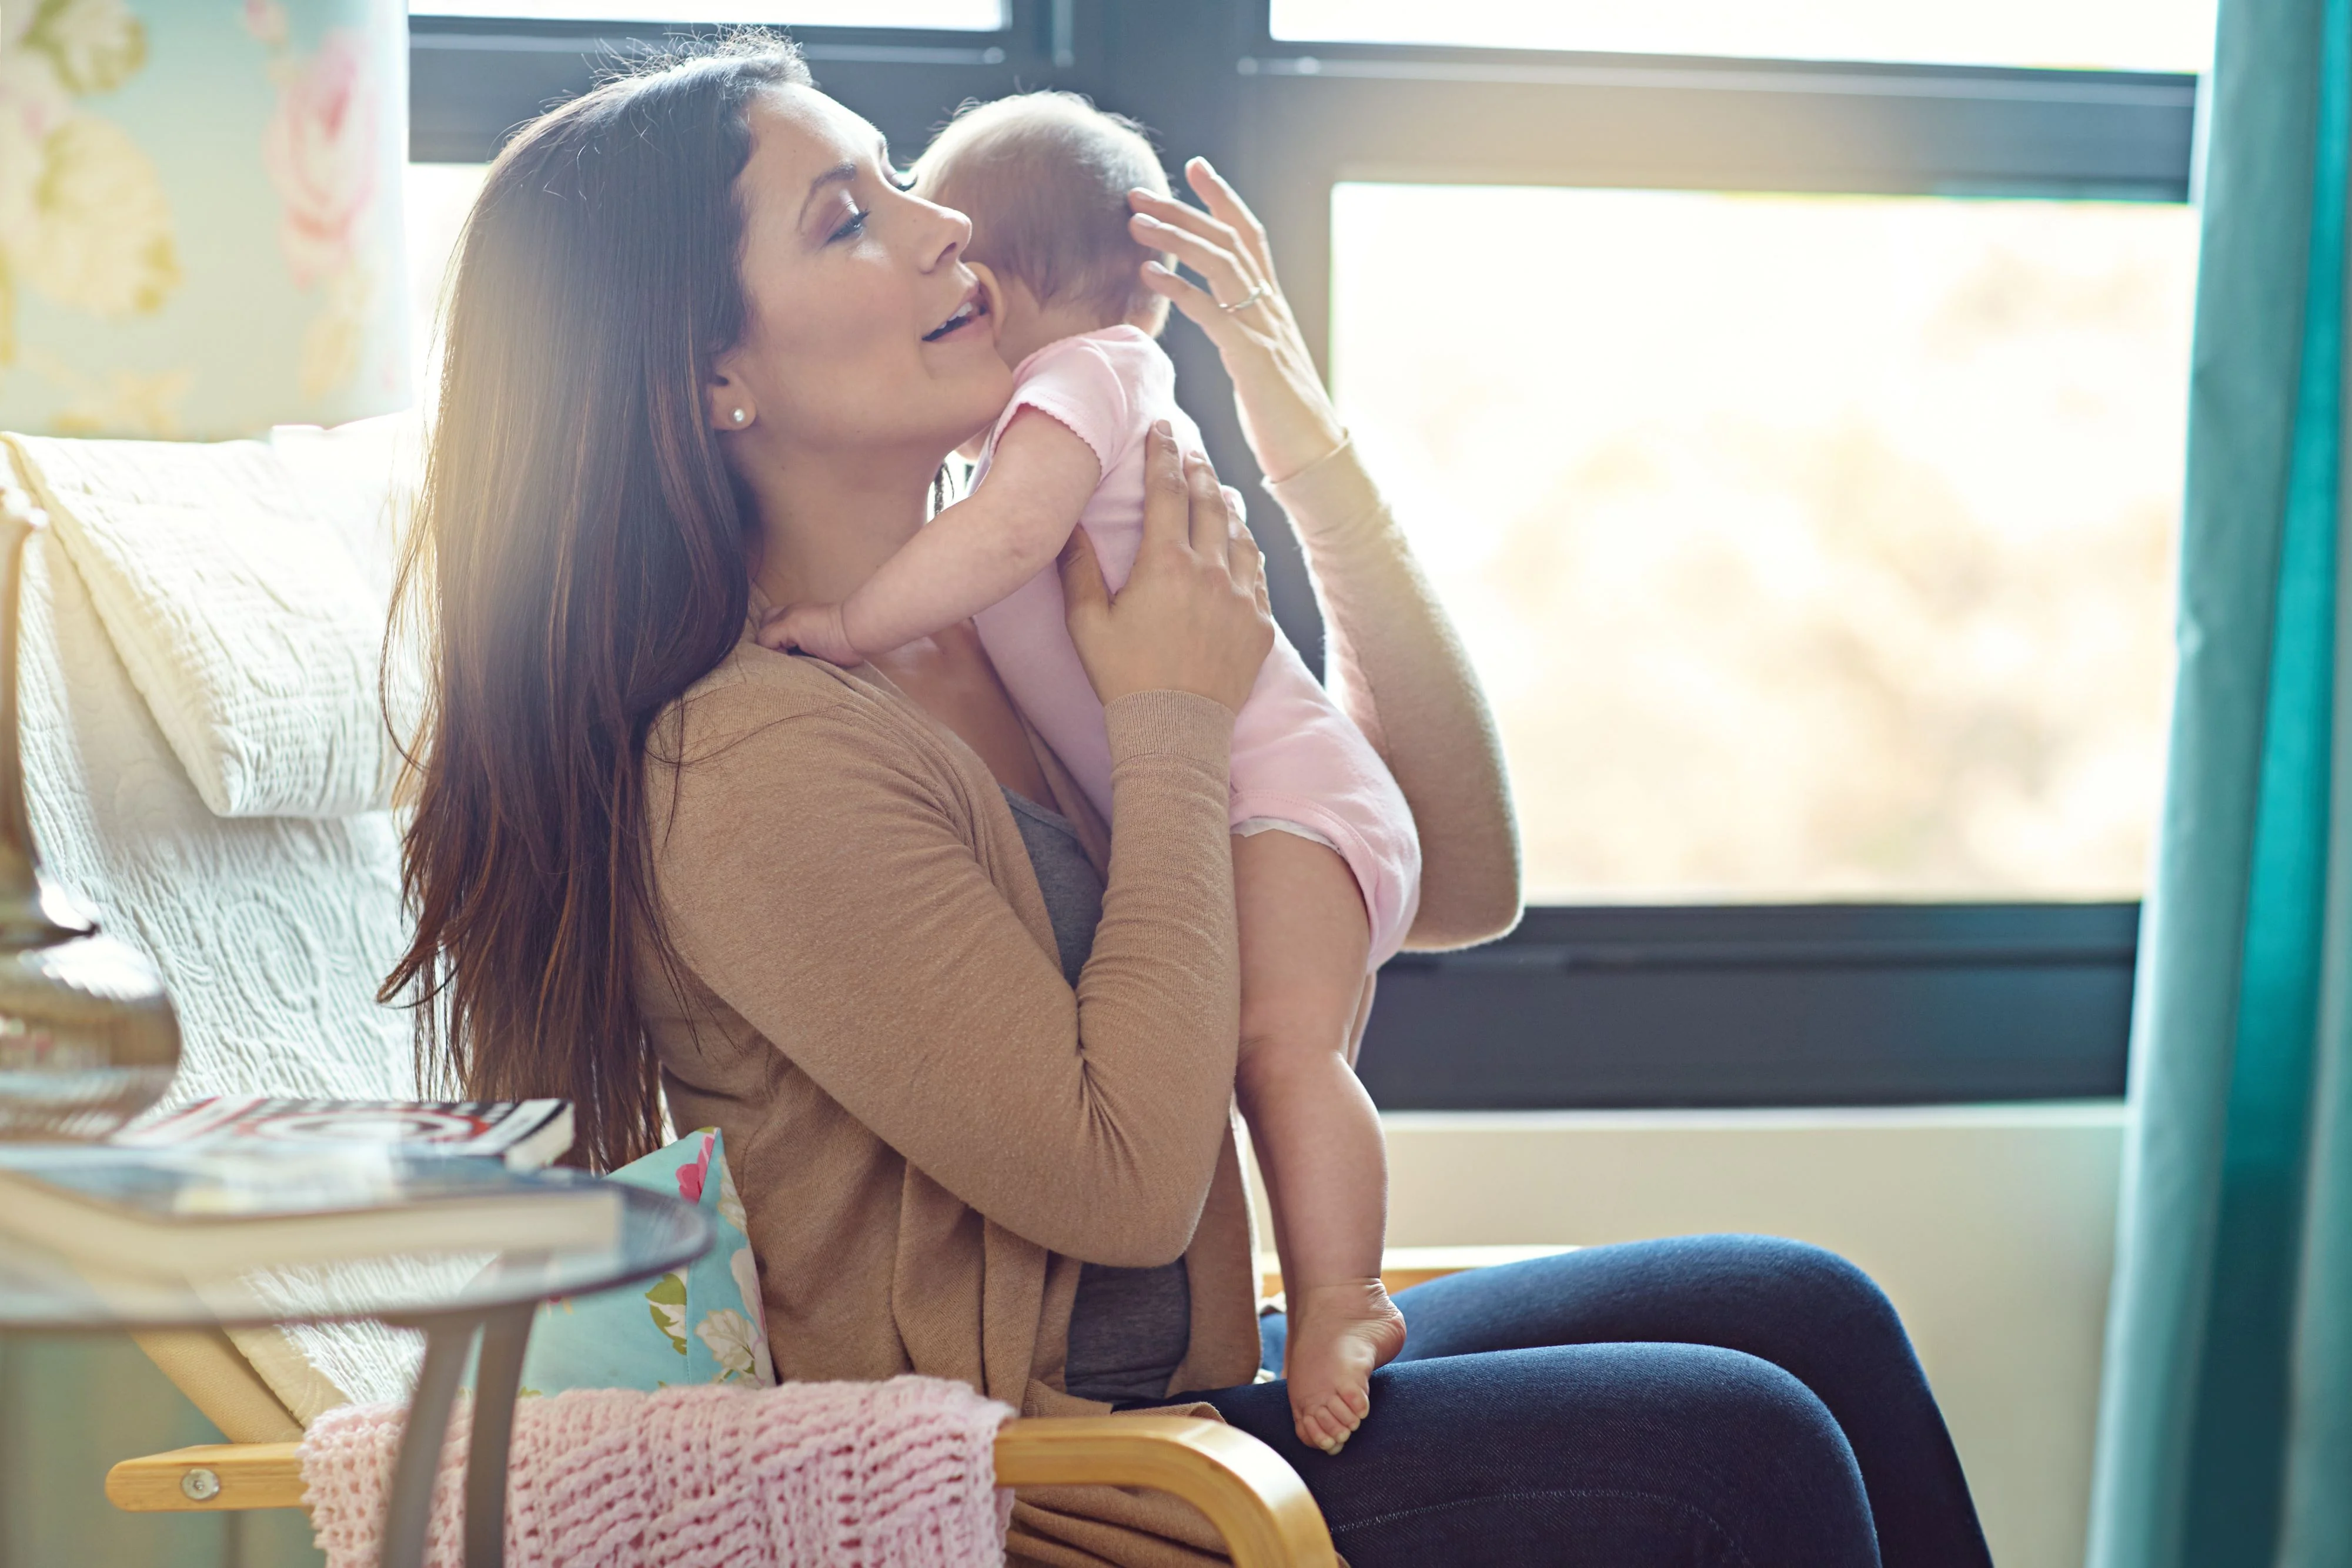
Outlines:
{"type": "Polygon", "coordinates": [[[1265,562],[1207,458],[1183,458],[1167,421],[1143,454],[1143,545],[1112,597],[1087,529],[1061,552],[1070,642],[1103,705],[1192,691],[1240,710],[1275,646],[1265,562]]]}

